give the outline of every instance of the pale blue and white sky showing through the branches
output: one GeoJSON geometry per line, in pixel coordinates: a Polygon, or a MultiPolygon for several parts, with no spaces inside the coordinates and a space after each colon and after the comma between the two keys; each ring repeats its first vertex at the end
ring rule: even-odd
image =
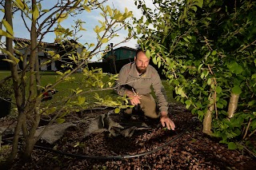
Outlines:
{"type": "MultiPolygon", "coordinates": [[[[53,6],[53,2],[56,0],[45,0],[42,2],[42,9],[49,9],[50,6],[53,6]]],[[[150,2],[150,1],[147,1],[150,2]]],[[[125,11],[125,8],[132,11],[134,14],[134,17],[140,18],[142,16],[141,10],[138,10],[137,6],[134,5],[134,0],[108,0],[106,2],[106,5],[109,5],[110,7],[113,7],[120,10],[121,12],[125,11]]],[[[149,6],[153,6],[149,3],[149,6]]],[[[0,13],[0,18],[3,17],[3,13],[0,13]]],[[[78,40],[78,42],[84,44],[86,42],[88,43],[97,43],[97,39],[95,38],[96,34],[94,33],[94,26],[99,25],[98,19],[101,19],[100,14],[98,13],[98,10],[92,10],[90,13],[84,12],[83,14],[78,15],[78,18],[81,19],[83,22],[86,22],[84,24],[84,28],[86,28],[86,32],[83,32],[81,35],[82,37],[78,40]]],[[[64,22],[62,22],[63,27],[70,27],[71,23],[74,23],[74,18],[67,18],[64,22]]],[[[26,26],[24,26],[22,22],[22,18],[20,14],[14,15],[14,37],[15,38],[27,38],[30,39],[30,33],[26,30],[26,26]]],[[[116,44],[117,42],[120,42],[123,38],[126,37],[126,31],[121,30],[119,32],[119,37],[114,38],[113,40],[106,43],[106,45],[113,43],[116,44]]],[[[55,35],[54,34],[46,34],[46,36],[43,38],[43,42],[54,42],[55,35]]],[[[137,40],[131,39],[129,42],[122,43],[118,45],[120,46],[128,46],[130,48],[136,48],[137,40]]],[[[106,47],[106,46],[105,46],[106,47]]],[[[102,48],[105,48],[104,46],[102,48]]],[[[115,48],[117,48],[115,47],[115,48]]],[[[92,61],[97,61],[98,57],[94,57],[92,61]]]]}

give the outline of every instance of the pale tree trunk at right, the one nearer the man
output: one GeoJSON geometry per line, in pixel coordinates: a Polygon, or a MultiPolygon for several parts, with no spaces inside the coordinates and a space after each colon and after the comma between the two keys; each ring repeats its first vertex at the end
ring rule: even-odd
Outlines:
{"type": "Polygon", "coordinates": [[[212,96],[210,97],[210,104],[207,106],[207,112],[203,118],[203,122],[202,122],[202,132],[206,133],[207,135],[212,135],[212,131],[211,131],[211,122],[212,122],[212,115],[213,115],[213,111],[214,111],[214,107],[215,107],[215,103],[214,103],[214,99],[215,99],[216,95],[215,93],[212,94],[212,96]]]}

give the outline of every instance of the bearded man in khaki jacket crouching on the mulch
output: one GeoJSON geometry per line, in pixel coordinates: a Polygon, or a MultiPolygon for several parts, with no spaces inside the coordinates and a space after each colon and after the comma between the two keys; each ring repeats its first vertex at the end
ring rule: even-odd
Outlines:
{"type": "MultiPolygon", "coordinates": [[[[165,89],[159,74],[152,65],[150,59],[142,49],[136,51],[134,62],[124,65],[118,75],[118,84],[115,89],[119,95],[126,94],[131,105],[140,105],[146,117],[158,118],[163,127],[174,130],[174,122],[168,117],[168,103],[164,95],[165,89]],[[156,110],[156,102],[150,94],[151,85],[158,98],[160,115],[156,110]]],[[[132,113],[132,109],[126,109],[127,114],[132,113]]]]}

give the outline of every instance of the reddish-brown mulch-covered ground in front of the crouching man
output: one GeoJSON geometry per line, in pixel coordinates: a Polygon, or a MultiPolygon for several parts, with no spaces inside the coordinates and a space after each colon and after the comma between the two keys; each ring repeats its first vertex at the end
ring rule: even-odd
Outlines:
{"type": "MultiPolygon", "coordinates": [[[[109,132],[84,137],[86,120],[110,111],[69,115],[66,121],[80,122],[54,144],[38,141],[32,160],[16,160],[10,169],[256,169],[253,155],[246,150],[229,150],[219,139],[203,134],[202,122],[177,104],[169,107],[175,131],[143,119],[151,128],[138,128],[131,137],[110,136],[109,132]]],[[[119,114],[111,115],[114,121],[120,120],[119,114]]]]}

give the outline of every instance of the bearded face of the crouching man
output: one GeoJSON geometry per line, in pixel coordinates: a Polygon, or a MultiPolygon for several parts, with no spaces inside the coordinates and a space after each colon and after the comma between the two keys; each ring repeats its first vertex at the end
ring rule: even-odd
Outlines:
{"type": "Polygon", "coordinates": [[[135,59],[136,69],[138,73],[145,73],[147,66],[150,64],[150,59],[142,51],[137,54],[135,59]]]}

